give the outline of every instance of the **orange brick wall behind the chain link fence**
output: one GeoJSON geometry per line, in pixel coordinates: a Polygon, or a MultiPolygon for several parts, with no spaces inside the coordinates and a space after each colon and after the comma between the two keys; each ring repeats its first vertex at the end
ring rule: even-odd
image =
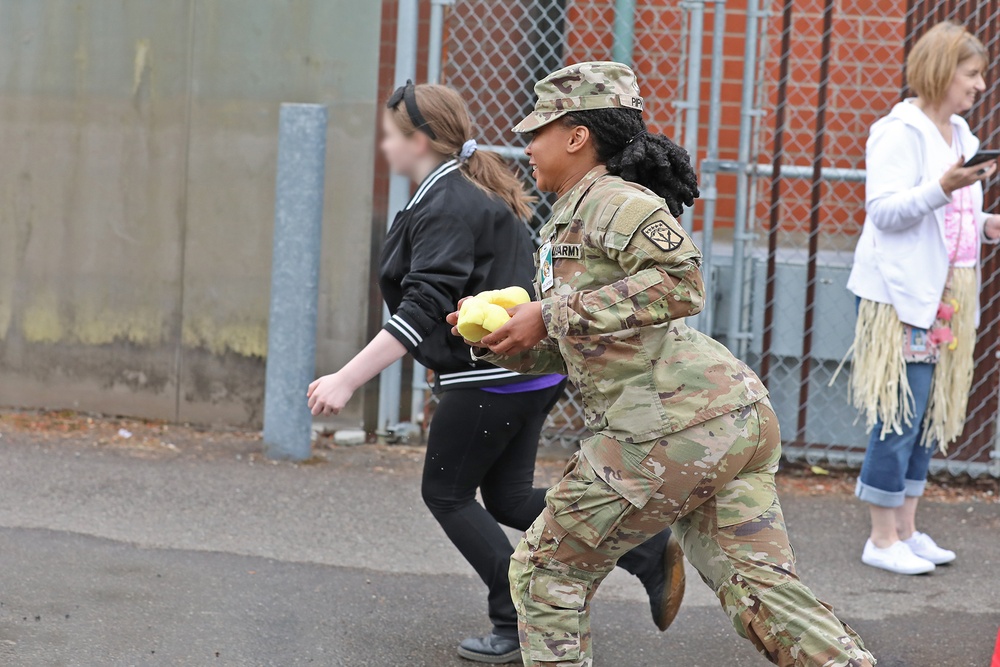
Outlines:
{"type": "MultiPolygon", "coordinates": [[[[791,0],[787,0],[791,1],[791,0]]],[[[786,0],[764,0],[771,16],[766,20],[762,44],[759,100],[764,115],[759,119],[756,136],[755,162],[770,163],[774,141],[774,110],[778,100],[778,54],[782,30],[782,9],[786,0]]],[[[455,85],[469,102],[479,123],[479,137],[488,143],[517,143],[509,134],[511,122],[530,106],[531,83],[543,65],[533,60],[535,37],[530,32],[536,18],[529,11],[538,0],[457,0],[446,22],[444,57],[445,79],[455,85]]],[[[684,97],[680,89],[683,79],[684,51],[683,13],[676,0],[636,0],[636,33],[634,64],[640,85],[647,98],[648,121],[655,131],[672,138],[677,135],[680,111],[674,102],[684,97]]],[[[426,42],[429,5],[421,6],[421,68],[418,78],[426,72],[426,42]]],[[[559,5],[548,0],[549,12],[559,5]]],[[[612,51],[613,0],[566,0],[565,25],[562,39],[565,60],[608,59],[612,51]]],[[[791,58],[785,96],[785,165],[810,165],[814,150],[816,100],[819,91],[823,0],[795,0],[792,7],[791,58]]],[[[384,0],[381,44],[380,96],[391,92],[393,58],[395,54],[395,0],[384,0]]],[[[711,33],[713,13],[711,3],[705,14],[702,44],[704,60],[701,80],[701,136],[706,142],[708,94],[710,76],[711,33]]],[[[739,106],[744,71],[744,28],[746,0],[726,3],[726,40],[722,82],[721,154],[724,160],[736,158],[739,139],[739,106]]],[[[1000,0],[835,0],[831,33],[826,143],[824,166],[859,168],[864,166],[864,145],[871,124],[889,111],[901,97],[904,52],[915,36],[930,25],[946,19],[957,19],[974,29],[993,51],[994,63],[987,77],[990,91],[970,114],[970,122],[984,143],[1000,145],[1000,37],[997,37],[997,16],[1000,0]]],[[[537,13],[537,12],[536,12],[537,13]]],[[[551,64],[557,66],[558,63],[551,64]]],[[[544,64],[550,66],[549,63],[544,64]]],[[[699,159],[704,154],[698,156],[699,159]]],[[[380,247],[386,216],[387,184],[385,164],[378,160],[373,185],[375,213],[373,237],[380,247]]],[[[754,191],[756,207],[750,224],[766,231],[770,220],[770,183],[760,179],[754,191]]],[[[778,204],[779,224],[783,244],[803,247],[802,232],[809,226],[810,183],[808,180],[783,179],[782,196],[778,204]]],[[[819,210],[821,243],[840,239],[838,249],[849,257],[852,237],[864,218],[864,191],[860,183],[824,183],[819,210]]],[[[731,225],[734,213],[735,177],[720,175],[717,227],[731,225]]],[[[987,191],[987,209],[995,206],[994,184],[987,191]]],[[[695,209],[695,225],[700,225],[701,206],[695,209]]],[[[374,260],[374,257],[373,257],[374,260]]],[[[984,264],[984,330],[1000,323],[1000,287],[995,276],[1000,275],[1000,254],[987,250],[984,264]]],[[[380,300],[373,288],[371,323],[377,328],[380,300]]],[[[981,444],[980,456],[987,457],[992,448],[992,434],[997,383],[1000,374],[995,363],[998,352],[996,336],[983,336],[977,348],[977,376],[970,403],[967,437],[981,444]]],[[[373,383],[370,383],[374,387],[373,383]]],[[[376,401],[366,400],[366,406],[376,401]]],[[[367,413],[367,411],[366,411],[367,413]]],[[[369,419],[374,423],[374,419],[369,419]]]]}

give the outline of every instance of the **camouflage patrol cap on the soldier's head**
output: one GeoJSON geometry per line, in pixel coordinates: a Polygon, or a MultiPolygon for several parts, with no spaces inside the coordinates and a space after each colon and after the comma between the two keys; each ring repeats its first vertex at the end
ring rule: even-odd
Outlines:
{"type": "Polygon", "coordinates": [[[563,67],[535,84],[535,110],[514,126],[534,132],[570,111],[624,107],[642,111],[635,72],[614,62],[577,63],[563,67]]]}

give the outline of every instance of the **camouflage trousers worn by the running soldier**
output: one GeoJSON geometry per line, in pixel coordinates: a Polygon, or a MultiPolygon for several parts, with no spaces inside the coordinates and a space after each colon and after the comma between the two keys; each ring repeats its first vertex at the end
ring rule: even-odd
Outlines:
{"type": "Polygon", "coordinates": [[[774,487],[778,423],[766,401],[655,443],[621,447],[645,451],[636,460],[663,480],[643,507],[578,454],[514,552],[510,581],[526,666],[592,665],[597,587],[623,553],[670,524],[736,631],[771,662],[875,664],[861,638],[795,574],[774,487]]]}

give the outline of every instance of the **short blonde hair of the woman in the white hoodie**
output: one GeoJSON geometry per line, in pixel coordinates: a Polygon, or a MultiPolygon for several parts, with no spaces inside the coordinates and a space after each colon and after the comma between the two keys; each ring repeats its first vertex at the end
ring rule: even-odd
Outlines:
{"type": "Polygon", "coordinates": [[[941,102],[958,65],[969,58],[989,62],[989,52],[975,35],[950,21],[928,30],[906,58],[906,85],[931,103],[941,102]]]}

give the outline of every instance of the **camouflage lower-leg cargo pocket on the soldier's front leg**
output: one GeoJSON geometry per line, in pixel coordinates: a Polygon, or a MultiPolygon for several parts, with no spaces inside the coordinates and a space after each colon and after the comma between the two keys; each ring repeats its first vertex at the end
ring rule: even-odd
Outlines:
{"type": "Polygon", "coordinates": [[[532,572],[526,600],[532,660],[580,660],[587,589],[587,582],[579,579],[541,568],[532,572]]]}

